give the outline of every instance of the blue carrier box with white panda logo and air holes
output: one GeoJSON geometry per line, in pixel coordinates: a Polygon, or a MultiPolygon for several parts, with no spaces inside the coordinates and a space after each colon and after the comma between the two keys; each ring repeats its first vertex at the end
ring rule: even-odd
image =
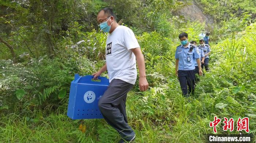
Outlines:
{"type": "Polygon", "coordinates": [[[98,77],[93,80],[93,76],[79,76],[75,74],[75,79],[71,82],[68,117],[71,119],[100,119],[103,118],[99,111],[98,101],[107,90],[109,80],[105,77],[98,77]]]}

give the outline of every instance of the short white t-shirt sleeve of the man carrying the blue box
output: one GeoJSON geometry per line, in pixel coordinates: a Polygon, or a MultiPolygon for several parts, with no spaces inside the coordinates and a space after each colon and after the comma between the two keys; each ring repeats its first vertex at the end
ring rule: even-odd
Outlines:
{"type": "Polygon", "coordinates": [[[140,48],[138,40],[136,39],[133,31],[130,28],[125,28],[124,30],[124,45],[129,49],[140,48]]]}

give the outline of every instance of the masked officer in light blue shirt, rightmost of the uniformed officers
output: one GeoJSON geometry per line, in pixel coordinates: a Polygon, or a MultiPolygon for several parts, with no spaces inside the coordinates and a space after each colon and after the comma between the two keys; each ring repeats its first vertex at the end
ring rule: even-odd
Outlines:
{"type": "Polygon", "coordinates": [[[202,61],[201,68],[202,70],[205,68],[206,71],[209,71],[209,54],[211,53],[211,47],[204,43],[204,39],[199,40],[199,43],[199,48],[202,48],[204,51],[204,61],[202,61]]]}

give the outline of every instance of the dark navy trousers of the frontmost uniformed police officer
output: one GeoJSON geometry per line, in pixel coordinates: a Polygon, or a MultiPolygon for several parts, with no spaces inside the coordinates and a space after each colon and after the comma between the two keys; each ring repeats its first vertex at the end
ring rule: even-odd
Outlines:
{"type": "Polygon", "coordinates": [[[184,96],[194,94],[195,90],[195,70],[178,70],[180,88],[184,96]]]}

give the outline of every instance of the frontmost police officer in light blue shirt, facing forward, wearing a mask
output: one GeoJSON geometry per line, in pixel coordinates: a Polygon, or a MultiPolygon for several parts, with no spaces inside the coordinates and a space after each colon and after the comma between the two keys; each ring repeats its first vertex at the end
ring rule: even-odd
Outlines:
{"type": "MultiPolygon", "coordinates": [[[[196,45],[188,43],[188,34],[183,32],[179,35],[181,45],[176,48],[175,52],[175,74],[178,76],[182,94],[189,96],[193,94],[195,89],[195,61],[198,65],[200,55],[196,45]]],[[[199,66],[199,75],[202,75],[199,66]]]]}

